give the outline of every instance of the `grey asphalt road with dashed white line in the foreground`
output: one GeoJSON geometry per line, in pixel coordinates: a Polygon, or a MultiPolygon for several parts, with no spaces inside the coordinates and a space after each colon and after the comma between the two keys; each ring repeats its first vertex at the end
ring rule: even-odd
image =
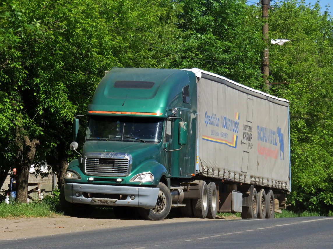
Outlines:
{"type": "Polygon", "coordinates": [[[331,249],[333,217],[205,219],[0,241],[0,249],[12,248],[331,249]]]}

